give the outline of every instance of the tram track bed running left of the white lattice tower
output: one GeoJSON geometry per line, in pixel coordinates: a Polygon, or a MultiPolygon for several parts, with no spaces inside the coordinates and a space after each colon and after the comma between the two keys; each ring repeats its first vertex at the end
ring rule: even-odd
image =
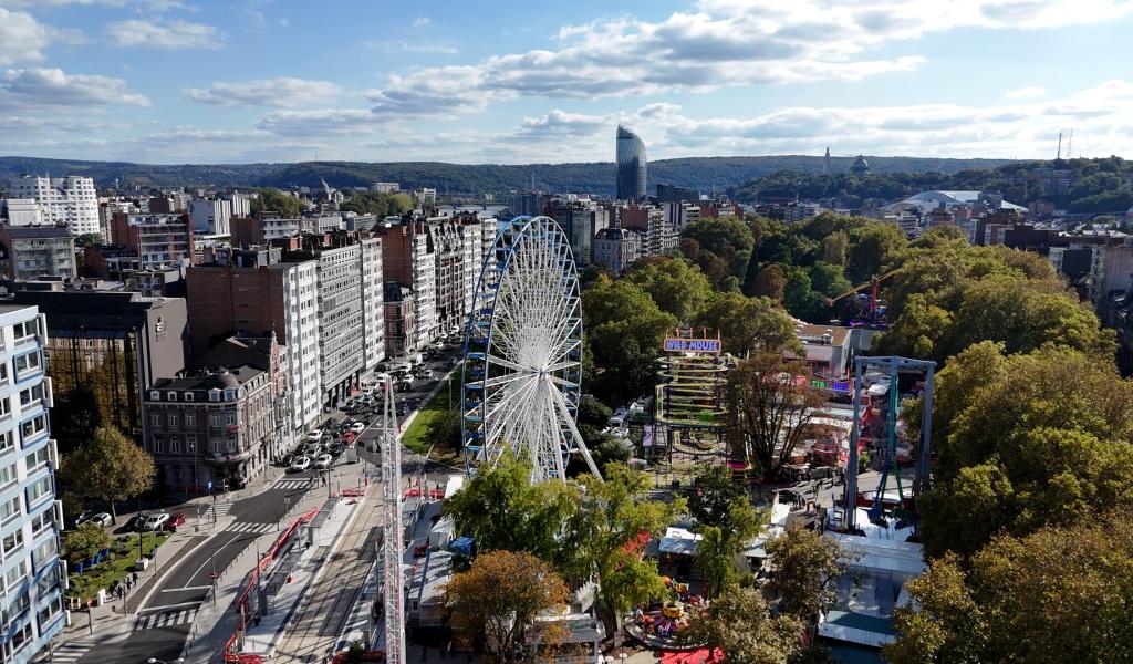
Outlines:
{"type": "MultiPolygon", "coordinates": [[[[377,491],[370,487],[372,493],[377,491]]],[[[320,579],[307,588],[272,662],[323,662],[334,647],[375,560],[370,534],[381,525],[382,513],[368,501],[360,509],[363,513],[323,563],[320,579]]]]}

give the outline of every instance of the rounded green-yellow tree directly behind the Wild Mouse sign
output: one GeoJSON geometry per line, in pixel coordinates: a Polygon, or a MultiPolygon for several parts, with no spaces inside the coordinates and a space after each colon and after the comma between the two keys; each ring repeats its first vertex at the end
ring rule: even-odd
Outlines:
{"type": "MultiPolygon", "coordinates": [[[[717,292],[697,317],[696,326],[717,331],[725,352],[800,349],[794,321],[773,300],[739,292],[717,292]]],[[[801,350],[801,349],[800,349],[801,350]]]]}

